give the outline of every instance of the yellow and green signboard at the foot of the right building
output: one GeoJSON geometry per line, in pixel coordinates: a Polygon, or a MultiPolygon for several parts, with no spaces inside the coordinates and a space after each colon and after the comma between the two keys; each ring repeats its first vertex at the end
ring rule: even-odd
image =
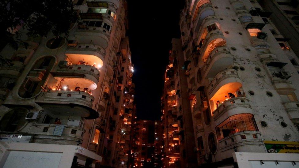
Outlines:
{"type": "Polygon", "coordinates": [[[268,153],[299,153],[299,142],[264,141],[268,153]]]}

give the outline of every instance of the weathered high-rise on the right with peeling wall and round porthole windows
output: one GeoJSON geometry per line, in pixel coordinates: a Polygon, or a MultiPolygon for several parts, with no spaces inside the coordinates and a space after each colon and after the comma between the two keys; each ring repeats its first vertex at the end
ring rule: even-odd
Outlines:
{"type": "Polygon", "coordinates": [[[186,1],[161,99],[165,167],[298,163],[270,154],[298,153],[299,75],[269,15],[256,1],[186,1]]]}

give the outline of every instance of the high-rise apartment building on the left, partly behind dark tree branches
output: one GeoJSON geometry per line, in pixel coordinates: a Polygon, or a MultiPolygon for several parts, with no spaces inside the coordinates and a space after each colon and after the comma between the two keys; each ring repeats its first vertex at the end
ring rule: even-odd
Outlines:
{"type": "Polygon", "coordinates": [[[135,112],[127,2],[75,0],[74,9],[68,39],[24,34],[27,47],[0,53],[1,167],[22,157],[29,167],[127,167],[135,112]]]}

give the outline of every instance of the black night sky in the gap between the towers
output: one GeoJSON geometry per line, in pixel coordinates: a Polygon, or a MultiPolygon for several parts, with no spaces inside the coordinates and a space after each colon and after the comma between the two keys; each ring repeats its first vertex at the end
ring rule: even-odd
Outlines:
{"type": "Polygon", "coordinates": [[[161,117],[163,74],[168,65],[171,39],[180,38],[179,17],[184,0],[128,2],[129,30],[137,117],[161,117]]]}

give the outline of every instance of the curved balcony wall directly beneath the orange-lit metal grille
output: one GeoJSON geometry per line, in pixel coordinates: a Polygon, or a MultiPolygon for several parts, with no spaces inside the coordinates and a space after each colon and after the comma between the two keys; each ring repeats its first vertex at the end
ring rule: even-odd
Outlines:
{"type": "Polygon", "coordinates": [[[219,151],[222,159],[231,157],[233,148],[237,147],[237,152],[266,152],[263,139],[259,131],[241,131],[225,137],[219,141],[219,151]]]}

